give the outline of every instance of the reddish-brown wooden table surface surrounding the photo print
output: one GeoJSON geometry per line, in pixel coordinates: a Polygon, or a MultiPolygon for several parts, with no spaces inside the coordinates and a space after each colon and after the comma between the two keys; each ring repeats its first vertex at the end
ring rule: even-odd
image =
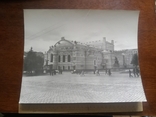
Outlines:
{"type": "Polygon", "coordinates": [[[23,9],[140,10],[139,64],[148,102],[143,103],[144,111],[141,113],[113,114],[156,115],[154,0],[12,0],[0,2],[0,112],[18,112],[24,50],[23,9]]]}

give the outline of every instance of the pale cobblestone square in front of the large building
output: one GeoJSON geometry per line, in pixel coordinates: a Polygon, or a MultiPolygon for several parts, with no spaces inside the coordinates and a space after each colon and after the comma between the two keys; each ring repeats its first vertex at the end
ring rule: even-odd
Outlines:
{"type": "Polygon", "coordinates": [[[104,103],[146,101],[140,77],[64,72],[22,78],[19,103],[104,103]]]}

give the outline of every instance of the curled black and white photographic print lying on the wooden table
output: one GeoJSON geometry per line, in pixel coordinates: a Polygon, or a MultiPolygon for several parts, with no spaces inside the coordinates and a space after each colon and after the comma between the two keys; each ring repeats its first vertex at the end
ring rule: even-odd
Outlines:
{"type": "Polygon", "coordinates": [[[144,102],[137,10],[24,9],[19,104],[144,102]]]}

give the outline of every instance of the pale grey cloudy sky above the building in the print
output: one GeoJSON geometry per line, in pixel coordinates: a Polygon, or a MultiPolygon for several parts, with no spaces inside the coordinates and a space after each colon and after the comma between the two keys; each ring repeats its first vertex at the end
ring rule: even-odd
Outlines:
{"type": "Polygon", "coordinates": [[[61,37],[89,42],[114,40],[115,50],[137,48],[139,11],[24,9],[24,51],[46,52],[61,37]]]}

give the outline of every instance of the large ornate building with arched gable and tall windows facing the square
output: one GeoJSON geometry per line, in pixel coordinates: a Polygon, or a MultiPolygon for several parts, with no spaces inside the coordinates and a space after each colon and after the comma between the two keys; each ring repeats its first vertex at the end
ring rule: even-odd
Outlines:
{"type": "Polygon", "coordinates": [[[93,70],[112,67],[114,42],[106,38],[99,41],[81,43],[64,37],[50,46],[44,55],[44,65],[62,70],[93,70]]]}

